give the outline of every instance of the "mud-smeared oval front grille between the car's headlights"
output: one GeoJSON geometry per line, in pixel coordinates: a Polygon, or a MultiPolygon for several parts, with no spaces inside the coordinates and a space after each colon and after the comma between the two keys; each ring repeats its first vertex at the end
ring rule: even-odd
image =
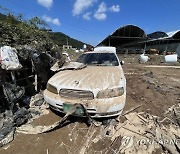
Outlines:
{"type": "Polygon", "coordinates": [[[87,90],[75,90],[75,89],[61,89],[59,95],[69,99],[94,99],[94,95],[91,91],[87,90]]]}

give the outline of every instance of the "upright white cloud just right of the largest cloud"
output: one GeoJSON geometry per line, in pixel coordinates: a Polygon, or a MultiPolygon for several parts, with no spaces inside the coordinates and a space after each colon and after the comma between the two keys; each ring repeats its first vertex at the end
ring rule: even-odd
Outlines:
{"type": "Polygon", "coordinates": [[[107,18],[106,11],[107,11],[106,3],[102,2],[99,5],[97,11],[95,12],[94,18],[96,18],[97,20],[105,20],[107,18]]]}

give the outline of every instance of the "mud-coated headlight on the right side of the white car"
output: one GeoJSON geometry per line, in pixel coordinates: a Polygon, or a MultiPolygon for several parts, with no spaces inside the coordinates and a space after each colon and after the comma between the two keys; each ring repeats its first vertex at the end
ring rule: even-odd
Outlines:
{"type": "Polygon", "coordinates": [[[124,88],[114,88],[114,89],[106,89],[99,91],[97,94],[97,98],[112,98],[122,96],[124,94],[124,88]]]}

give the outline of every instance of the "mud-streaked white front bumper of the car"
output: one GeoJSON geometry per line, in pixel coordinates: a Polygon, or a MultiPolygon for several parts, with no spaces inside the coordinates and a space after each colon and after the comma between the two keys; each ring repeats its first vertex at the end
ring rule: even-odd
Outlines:
{"type": "MultiPolygon", "coordinates": [[[[54,94],[47,89],[44,91],[44,99],[50,105],[50,107],[56,111],[66,113],[66,109],[69,105],[82,104],[88,114],[93,118],[102,118],[102,117],[113,117],[118,116],[122,113],[126,93],[124,95],[114,98],[104,98],[104,99],[93,99],[93,100],[70,100],[65,99],[54,94]]],[[[79,112],[80,113],[80,112],[79,112]]],[[[75,114],[76,116],[82,116],[82,114],[75,114]]]]}

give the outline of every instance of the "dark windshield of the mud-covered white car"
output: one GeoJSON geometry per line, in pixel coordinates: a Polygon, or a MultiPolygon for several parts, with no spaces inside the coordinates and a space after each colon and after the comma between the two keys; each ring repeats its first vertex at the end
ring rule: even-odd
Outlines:
{"type": "Polygon", "coordinates": [[[86,53],[82,54],[77,62],[96,66],[118,66],[119,62],[114,53],[86,53]]]}

